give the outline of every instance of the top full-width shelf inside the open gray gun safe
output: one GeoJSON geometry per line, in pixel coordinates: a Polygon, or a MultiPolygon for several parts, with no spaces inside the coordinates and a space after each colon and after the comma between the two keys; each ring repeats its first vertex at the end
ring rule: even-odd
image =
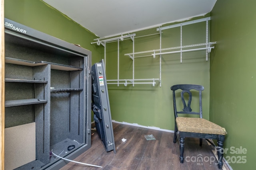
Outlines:
{"type": "Polygon", "coordinates": [[[5,63],[19,64],[19,65],[24,65],[24,66],[40,66],[40,65],[50,64],[51,68],[54,70],[64,70],[64,71],[83,70],[83,68],[75,67],[75,66],[50,63],[50,62],[46,62],[46,61],[37,61],[37,62],[26,61],[26,60],[20,60],[20,59],[13,59],[13,58],[9,58],[9,57],[5,57],[5,63]]]}

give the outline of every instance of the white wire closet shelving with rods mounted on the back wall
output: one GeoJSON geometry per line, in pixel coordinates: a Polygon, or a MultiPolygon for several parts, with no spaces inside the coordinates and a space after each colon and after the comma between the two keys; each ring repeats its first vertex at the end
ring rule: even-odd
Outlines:
{"type": "Polygon", "coordinates": [[[202,18],[198,20],[192,20],[187,21],[183,23],[178,23],[174,25],[168,25],[165,27],[162,27],[162,25],[154,25],[152,27],[146,27],[142,29],[136,29],[133,31],[128,31],[124,33],[119,33],[116,35],[110,35],[106,37],[100,37],[94,39],[93,43],[96,43],[97,45],[103,45],[104,46],[104,60],[105,60],[105,69],[106,69],[106,43],[112,43],[112,42],[118,42],[118,66],[117,66],[117,79],[116,80],[107,80],[107,84],[117,84],[119,86],[120,84],[124,84],[124,86],[127,86],[128,84],[152,84],[152,86],[155,86],[156,83],[159,81],[159,85],[161,87],[162,80],[162,55],[167,54],[173,54],[173,53],[180,53],[180,63],[182,63],[182,53],[186,52],[192,52],[192,51],[206,51],[206,61],[208,61],[208,56],[212,49],[214,49],[214,44],[217,42],[209,42],[208,39],[208,21],[210,20],[210,17],[202,18]],[[206,43],[200,43],[200,44],[192,44],[192,45],[183,45],[182,44],[182,26],[184,25],[190,25],[193,23],[203,22],[206,21],[206,43]],[[179,47],[170,47],[162,49],[162,30],[164,29],[170,29],[174,27],[180,27],[180,46],[179,47]],[[160,49],[154,49],[149,51],[140,51],[140,52],[134,52],[134,39],[138,37],[145,37],[149,35],[160,35],[160,49]],[[132,79],[119,79],[119,43],[120,41],[124,41],[126,39],[132,40],[132,53],[124,54],[125,56],[129,56],[130,59],[132,59],[132,79]],[[156,56],[159,55],[159,78],[145,78],[145,79],[136,79],[134,76],[134,59],[139,57],[153,57],[156,58],[156,56]]]}

